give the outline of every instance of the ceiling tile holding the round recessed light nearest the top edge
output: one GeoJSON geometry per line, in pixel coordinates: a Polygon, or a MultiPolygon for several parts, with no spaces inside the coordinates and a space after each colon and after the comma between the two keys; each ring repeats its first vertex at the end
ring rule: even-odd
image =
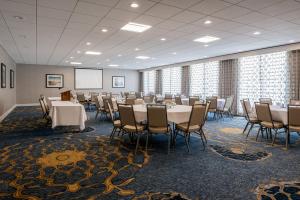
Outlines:
{"type": "Polygon", "coordinates": [[[148,0],[135,0],[135,1],[122,0],[122,1],[119,1],[116,8],[119,8],[119,9],[122,9],[122,10],[127,10],[127,11],[130,11],[130,12],[144,13],[145,11],[150,9],[154,4],[155,4],[155,2],[148,1],[148,0]],[[138,8],[132,8],[130,6],[132,2],[137,3],[139,5],[139,7],[138,8]]]}

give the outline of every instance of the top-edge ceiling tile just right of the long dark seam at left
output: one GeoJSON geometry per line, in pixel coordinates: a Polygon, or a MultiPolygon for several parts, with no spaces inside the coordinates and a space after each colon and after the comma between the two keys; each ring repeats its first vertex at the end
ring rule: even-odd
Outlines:
{"type": "Polygon", "coordinates": [[[39,6],[72,11],[75,8],[76,0],[38,0],[39,6]]]}

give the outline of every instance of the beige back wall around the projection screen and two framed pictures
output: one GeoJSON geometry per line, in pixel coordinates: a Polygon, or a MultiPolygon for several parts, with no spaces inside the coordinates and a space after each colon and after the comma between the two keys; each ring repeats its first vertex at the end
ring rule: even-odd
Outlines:
{"type": "MultiPolygon", "coordinates": [[[[48,65],[17,65],[17,104],[37,103],[40,94],[58,96],[61,91],[74,90],[74,68],[48,65]],[[46,74],[63,74],[64,88],[46,88],[46,74]]],[[[120,91],[138,91],[139,73],[136,70],[103,69],[103,89],[92,91],[106,91],[118,93],[120,91]],[[125,88],[112,88],[112,76],[125,76],[125,88]]],[[[89,90],[81,90],[86,93],[89,90]]]]}

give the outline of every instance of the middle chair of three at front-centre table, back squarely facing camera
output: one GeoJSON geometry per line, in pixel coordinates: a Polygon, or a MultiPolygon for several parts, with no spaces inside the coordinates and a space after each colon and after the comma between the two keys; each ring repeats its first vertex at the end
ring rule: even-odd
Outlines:
{"type": "Polygon", "coordinates": [[[166,105],[147,105],[147,139],[146,151],[148,150],[149,134],[165,134],[168,136],[168,154],[170,153],[170,145],[172,141],[172,130],[168,124],[166,105]]]}

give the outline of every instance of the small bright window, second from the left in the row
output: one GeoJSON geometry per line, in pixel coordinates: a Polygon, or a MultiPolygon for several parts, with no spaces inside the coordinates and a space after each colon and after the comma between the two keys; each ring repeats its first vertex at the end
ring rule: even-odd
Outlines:
{"type": "Polygon", "coordinates": [[[172,67],[162,70],[162,93],[181,93],[181,67],[172,67]]]}

